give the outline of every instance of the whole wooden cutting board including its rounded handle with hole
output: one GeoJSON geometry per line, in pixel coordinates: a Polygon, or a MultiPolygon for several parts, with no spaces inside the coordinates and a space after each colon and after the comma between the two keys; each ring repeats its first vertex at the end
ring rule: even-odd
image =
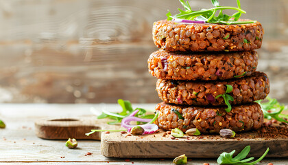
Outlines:
{"type": "Polygon", "coordinates": [[[265,139],[256,137],[257,133],[237,133],[237,137],[228,139],[219,135],[202,135],[171,139],[165,131],[151,135],[127,136],[119,132],[94,133],[86,136],[91,129],[119,129],[105,121],[95,118],[49,118],[35,123],[36,135],[44,139],[67,140],[100,140],[101,154],[106,157],[125,158],[173,158],[186,154],[191,157],[219,157],[222,152],[234,149],[241,151],[250,145],[249,156],[260,157],[267,147],[266,157],[288,157],[288,138],[275,137],[265,139]]]}

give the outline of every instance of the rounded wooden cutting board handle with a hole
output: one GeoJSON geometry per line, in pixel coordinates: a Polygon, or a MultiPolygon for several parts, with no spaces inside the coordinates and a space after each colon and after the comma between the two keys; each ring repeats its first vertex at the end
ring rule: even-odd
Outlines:
{"type": "Polygon", "coordinates": [[[48,140],[100,140],[101,132],[86,136],[91,129],[101,129],[103,124],[95,118],[48,118],[35,122],[35,133],[48,140]]]}

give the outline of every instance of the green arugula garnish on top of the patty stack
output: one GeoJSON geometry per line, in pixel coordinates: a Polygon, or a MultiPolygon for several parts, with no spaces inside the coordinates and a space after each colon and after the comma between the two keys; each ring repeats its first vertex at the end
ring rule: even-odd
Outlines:
{"type": "Polygon", "coordinates": [[[178,8],[179,12],[178,14],[172,16],[171,12],[168,10],[168,13],[166,14],[167,20],[171,21],[172,19],[187,19],[187,20],[193,20],[193,21],[206,21],[207,23],[221,23],[226,25],[231,24],[244,24],[244,23],[255,23],[256,21],[237,21],[241,14],[245,14],[246,12],[241,9],[240,1],[237,0],[237,7],[230,7],[230,6],[220,6],[219,1],[217,0],[211,0],[212,5],[215,8],[209,8],[209,9],[202,9],[193,11],[191,9],[191,6],[189,5],[188,1],[184,2],[183,0],[179,0],[182,6],[184,7],[184,10],[181,10],[178,8]],[[232,16],[228,14],[223,14],[224,10],[236,10],[232,16]],[[219,14],[216,13],[219,11],[219,14]]]}

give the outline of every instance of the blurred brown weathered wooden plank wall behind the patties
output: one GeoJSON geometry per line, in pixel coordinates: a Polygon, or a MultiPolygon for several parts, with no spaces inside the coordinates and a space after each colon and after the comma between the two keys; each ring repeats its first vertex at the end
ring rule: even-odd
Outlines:
{"type": "MultiPolygon", "coordinates": [[[[152,25],[177,7],[178,0],[0,1],[0,102],[160,102],[147,71],[157,50],[152,25]]],[[[269,76],[269,96],[288,103],[288,1],[241,0],[241,8],[241,18],[265,29],[257,69],[269,76]]]]}

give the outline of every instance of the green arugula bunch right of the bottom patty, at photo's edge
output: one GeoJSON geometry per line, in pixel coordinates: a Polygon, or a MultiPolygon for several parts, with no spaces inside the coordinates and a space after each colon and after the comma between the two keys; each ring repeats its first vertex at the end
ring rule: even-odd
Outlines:
{"type": "Polygon", "coordinates": [[[264,113],[264,118],[267,118],[269,120],[274,118],[279,122],[288,123],[288,121],[284,119],[284,118],[288,119],[288,115],[282,114],[282,111],[287,110],[285,105],[280,104],[275,98],[267,97],[267,100],[268,100],[267,102],[262,102],[262,100],[255,101],[261,105],[261,109],[264,113]]]}

